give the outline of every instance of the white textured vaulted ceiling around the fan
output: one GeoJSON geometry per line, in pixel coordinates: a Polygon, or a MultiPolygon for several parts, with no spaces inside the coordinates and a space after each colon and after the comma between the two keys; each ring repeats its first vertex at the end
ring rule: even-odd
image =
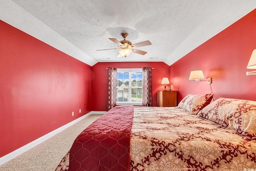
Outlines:
{"type": "Polygon", "coordinates": [[[1,0],[0,19],[92,66],[97,62],[178,59],[256,8],[256,0],[1,0]],[[146,55],[118,57],[108,38],[146,55]]]}

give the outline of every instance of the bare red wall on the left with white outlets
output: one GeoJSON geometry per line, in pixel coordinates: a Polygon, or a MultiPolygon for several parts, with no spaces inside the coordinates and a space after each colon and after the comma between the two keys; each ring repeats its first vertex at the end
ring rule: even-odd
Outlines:
{"type": "Polygon", "coordinates": [[[92,67],[1,20],[0,33],[2,157],[90,112],[92,67]]]}

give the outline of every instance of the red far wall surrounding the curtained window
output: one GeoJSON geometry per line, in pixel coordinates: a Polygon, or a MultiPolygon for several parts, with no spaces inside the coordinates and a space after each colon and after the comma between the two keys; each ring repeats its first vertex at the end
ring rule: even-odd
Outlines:
{"type": "Polygon", "coordinates": [[[168,77],[170,67],[163,62],[120,62],[120,63],[97,63],[92,67],[92,110],[106,111],[108,102],[108,67],[117,68],[142,68],[153,67],[152,69],[152,100],[153,106],[157,106],[157,90],[164,90],[161,85],[163,77],[168,77]]]}

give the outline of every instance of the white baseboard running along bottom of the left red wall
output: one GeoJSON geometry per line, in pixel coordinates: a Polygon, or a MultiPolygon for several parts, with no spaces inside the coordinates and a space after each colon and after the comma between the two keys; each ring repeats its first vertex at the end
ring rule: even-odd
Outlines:
{"type": "Polygon", "coordinates": [[[0,165],[6,163],[7,161],[10,161],[11,159],[17,157],[18,155],[24,153],[25,151],[28,151],[29,149],[33,148],[34,146],[44,142],[45,140],[48,140],[49,138],[51,138],[52,136],[55,136],[56,134],[62,132],[63,130],[65,130],[66,128],[76,124],[77,122],[79,122],[80,120],[86,118],[87,116],[90,116],[91,114],[104,114],[106,112],[104,111],[91,111],[83,116],[81,116],[80,118],[77,118],[76,120],[73,120],[72,122],[60,127],[60,128],[57,128],[56,130],[4,155],[3,157],[0,158],[0,165]]]}

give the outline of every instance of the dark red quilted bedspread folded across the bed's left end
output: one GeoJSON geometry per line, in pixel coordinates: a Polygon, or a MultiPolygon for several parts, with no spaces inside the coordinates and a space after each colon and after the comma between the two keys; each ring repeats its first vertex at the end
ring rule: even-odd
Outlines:
{"type": "Polygon", "coordinates": [[[133,106],[116,106],[79,134],[70,149],[70,171],[130,170],[133,106]]]}

